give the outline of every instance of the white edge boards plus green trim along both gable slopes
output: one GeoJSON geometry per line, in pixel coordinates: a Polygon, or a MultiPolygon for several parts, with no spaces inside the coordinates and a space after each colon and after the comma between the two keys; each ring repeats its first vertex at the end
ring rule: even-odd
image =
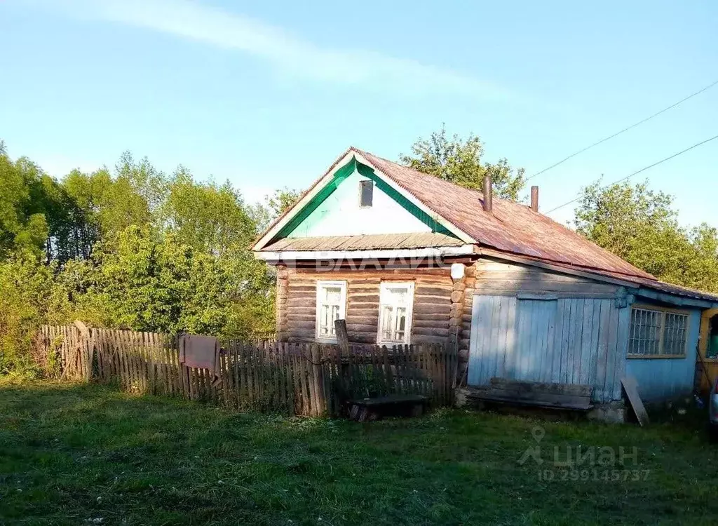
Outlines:
{"type": "Polygon", "coordinates": [[[373,167],[361,154],[349,149],[343,154],[332,168],[309,188],[299,201],[280,216],[273,225],[266,231],[264,236],[253,246],[254,251],[260,251],[274,239],[289,236],[294,229],[306,219],[317,206],[322,203],[329,195],[331,195],[347,177],[355,171],[359,172],[363,177],[373,180],[374,183],[384,193],[401,205],[406,211],[425,223],[432,230],[439,234],[452,234],[465,243],[476,243],[477,241],[454,224],[447,221],[429,207],[424,205],[419,199],[411,195],[411,193],[401,188],[401,186],[384,176],[380,170],[373,167]]]}

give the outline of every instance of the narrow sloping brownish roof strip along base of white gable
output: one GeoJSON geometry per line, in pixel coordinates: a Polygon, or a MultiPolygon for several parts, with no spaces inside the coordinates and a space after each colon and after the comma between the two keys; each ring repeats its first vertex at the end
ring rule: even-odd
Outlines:
{"type": "Polygon", "coordinates": [[[280,250],[378,250],[425,249],[433,246],[461,246],[464,244],[446,234],[373,234],[370,236],[286,237],[262,249],[280,250]]]}

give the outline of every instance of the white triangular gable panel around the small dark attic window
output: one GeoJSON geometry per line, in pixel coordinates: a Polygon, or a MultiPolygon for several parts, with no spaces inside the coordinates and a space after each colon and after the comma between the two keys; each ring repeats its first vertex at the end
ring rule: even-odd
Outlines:
{"type": "Polygon", "coordinates": [[[410,234],[431,232],[399,203],[374,185],[373,205],[359,206],[359,183],[367,177],[354,172],[337,186],[291,237],[360,236],[363,234],[410,234]]]}

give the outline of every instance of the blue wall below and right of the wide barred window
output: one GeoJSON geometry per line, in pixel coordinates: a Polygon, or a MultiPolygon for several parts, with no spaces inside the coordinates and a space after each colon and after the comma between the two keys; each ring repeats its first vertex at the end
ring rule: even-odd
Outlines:
{"type": "Polygon", "coordinates": [[[701,311],[690,312],[685,358],[626,360],[626,373],[635,377],[638,394],[644,401],[671,399],[693,391],[701,311]]]}

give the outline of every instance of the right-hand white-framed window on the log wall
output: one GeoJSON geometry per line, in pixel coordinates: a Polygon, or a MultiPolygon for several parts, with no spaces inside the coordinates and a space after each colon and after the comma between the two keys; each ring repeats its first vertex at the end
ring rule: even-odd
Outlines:
{"type": "Polygon", "coordinates": [[[381,282],[378,343],[409,343],[414,282],[381,282]]]}

